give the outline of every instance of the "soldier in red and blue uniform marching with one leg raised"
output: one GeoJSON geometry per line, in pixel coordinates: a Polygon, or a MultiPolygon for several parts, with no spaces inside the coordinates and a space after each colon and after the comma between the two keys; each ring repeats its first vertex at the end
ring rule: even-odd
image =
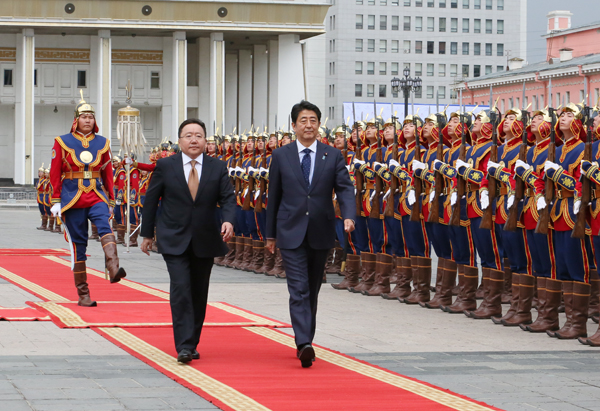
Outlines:
{"type": "Polygon", "coordinates": [[[114,207],[110,141],[98,134],[94,109],[83,100],[75,110],[71,132],[54,139],[52,148],[52,214],[64,221],[72,244],[72,269],[78,304],[95,306],[86,272],[88,220],[98,227],[110,282],[125,277],[109,218],[114,207]],[[101,189],[104,185],[106,191],[101,189]]]}

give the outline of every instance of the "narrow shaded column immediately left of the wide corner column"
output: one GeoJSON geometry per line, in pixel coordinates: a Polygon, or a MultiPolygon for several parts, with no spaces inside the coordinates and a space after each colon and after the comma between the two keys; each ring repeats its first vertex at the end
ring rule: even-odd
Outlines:
{"type": "Polygon", "coordinates": [[[254,54],[252,58],[252,114],[255,126],[264,131],[264,126],[268,126],[268,98],[269,98],[269,64],[267,46],[263,44],[254,45],[254,54]]]}

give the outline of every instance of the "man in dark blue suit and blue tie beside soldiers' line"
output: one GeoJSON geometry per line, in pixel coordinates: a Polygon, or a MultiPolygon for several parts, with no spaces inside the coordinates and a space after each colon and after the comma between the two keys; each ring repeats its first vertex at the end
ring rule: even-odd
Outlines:
{"type": "Polygon", "coordinates": [[[321,111],[302,101],[292,108],[297,140],[273,151],[269,171],[267,248],[281,250],[290,293],[290,316],[303,367],[315,360],[317,297],[327,254],[335,243],[337,196],[344,229],[354,230],[354,186],[342,152],[317,141],[321,111]]]}

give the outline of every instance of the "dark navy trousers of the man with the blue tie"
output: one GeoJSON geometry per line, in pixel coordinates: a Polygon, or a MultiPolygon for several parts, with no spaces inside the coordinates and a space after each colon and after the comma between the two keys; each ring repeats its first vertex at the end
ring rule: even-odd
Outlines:
{"type": "Polygon", "coordinates": [[[317,327],[317,299],[329,250],[311,248],[304,239],[300,247],[280,251],[290,293],[296,346],[312,343],[317,327]]]}

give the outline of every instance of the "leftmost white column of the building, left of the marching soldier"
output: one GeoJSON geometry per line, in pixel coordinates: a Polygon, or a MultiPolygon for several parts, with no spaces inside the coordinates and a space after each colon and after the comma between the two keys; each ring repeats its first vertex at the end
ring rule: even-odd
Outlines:
{"type": "Polygon", "coordinates": [[[35,38],[33,29],[17,34],[15,82],[15,184],[33,184],[34,100],[33,70],[35,38]]]}

